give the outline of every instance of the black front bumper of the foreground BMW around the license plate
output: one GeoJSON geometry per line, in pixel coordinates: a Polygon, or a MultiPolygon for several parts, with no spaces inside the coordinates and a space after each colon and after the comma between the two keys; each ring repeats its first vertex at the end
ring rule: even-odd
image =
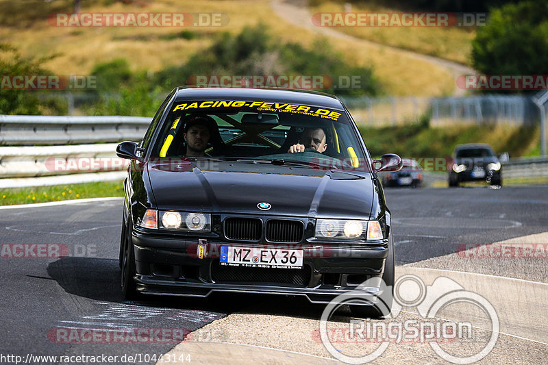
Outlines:
{"type": "Polygon", "coordinates": [[[355,290],[368,279],[376,285],[363,288],[377,296],[388,239],[375,244],[227,243],[201,241],[206,255],[198,257],[198,240],[132,232],[138,292],[145,294],[208,297],[212,292],[251,292],[303,295],[312,303],[329,303],[334,297],[355,290]],[[281,247],[303,250],[302,268],[238,268],[219,265],[223,246],[281,247]]]}

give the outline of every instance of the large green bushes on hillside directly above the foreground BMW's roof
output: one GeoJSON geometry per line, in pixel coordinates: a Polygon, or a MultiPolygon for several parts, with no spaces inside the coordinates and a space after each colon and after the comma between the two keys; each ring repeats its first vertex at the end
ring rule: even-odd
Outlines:
{"type": "Polygon", "coordinates": [[[343,75],[359,77],[360,86],[321,91],[359,96],[377,95],[382,90],[371,68],[350,66],[326,40],[316,40],[312,49],[292,42],[280,44],[263,25],[245,27],[237,35],[221,34],[211,47],[192,55],[186,64],[158,73],[156,81],[171,89],[186,84],[192,75],[327,75],[335,84],[343,75]]]}

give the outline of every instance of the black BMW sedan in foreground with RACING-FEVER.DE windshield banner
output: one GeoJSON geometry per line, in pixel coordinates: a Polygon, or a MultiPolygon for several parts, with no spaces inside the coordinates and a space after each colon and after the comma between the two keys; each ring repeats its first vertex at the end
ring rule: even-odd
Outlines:
{"type": "MultiPolygon", "coordinates": [[[[329,303],[360,288],[390,294],[390,308],[394,247],[377,172],[397,171],[401,159],[372,160],[337,97],[175,88],[142,141],[116,152],[131,160],[126,298],[224,291],[329,303]]],[[[360,304],[356,315],[379,308],[360,304]]]]}

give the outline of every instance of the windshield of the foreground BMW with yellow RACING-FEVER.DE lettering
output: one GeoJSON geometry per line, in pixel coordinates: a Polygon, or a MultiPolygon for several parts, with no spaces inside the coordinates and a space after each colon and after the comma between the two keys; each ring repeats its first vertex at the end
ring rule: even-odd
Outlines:
{"type": "Polygon", "coordinates": [[[342,110],[262,101],[176,101],[151,157],[190,156],[188,132],[196,124],[207,125],[200,151],[205,158],[349,169],[366,161],[360,137],[342,110]]]}

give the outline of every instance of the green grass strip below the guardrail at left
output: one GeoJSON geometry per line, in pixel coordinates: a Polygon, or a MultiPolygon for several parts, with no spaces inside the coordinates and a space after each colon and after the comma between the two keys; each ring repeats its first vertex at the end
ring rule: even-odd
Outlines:
{"type": "Polygon", "coordinates": [[[0,205],[44,203],[71,199],[123,197],[123,181],[12,188],[0,191],[0,205]]]}

